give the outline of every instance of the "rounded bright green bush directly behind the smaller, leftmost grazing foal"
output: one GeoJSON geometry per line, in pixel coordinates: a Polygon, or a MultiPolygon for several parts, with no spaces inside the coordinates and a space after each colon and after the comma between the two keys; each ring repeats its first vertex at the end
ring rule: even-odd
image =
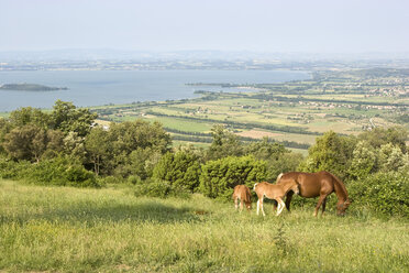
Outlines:
{"type": "Polygon", "coordinates": [[[234,186],[253,187],[266,177],[266,163],[252,155],[209,161],[202,166],[200,192],[211,198],[231,199],[234,186]]]}

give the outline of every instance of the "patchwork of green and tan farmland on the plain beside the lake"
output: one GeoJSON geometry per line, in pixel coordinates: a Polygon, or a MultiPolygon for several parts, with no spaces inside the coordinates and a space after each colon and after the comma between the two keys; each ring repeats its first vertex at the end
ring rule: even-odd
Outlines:
{"type": "MultiPolygon", "coordinates": [[[[246,141],[259,139],[263,131],[270,140],[292,142],[284,143],[287,148],[299,148],[294,143],[311,145],[317,135],[329,130],[358,134],[374,127],[408,128],[407,74],[405,69],[364,69],[362,74],[322,70],[311,80],[239,85],[252,88],[246,92],[202,91],[200,98],[98,107],[93,111],[103,120],[159,121],[177,140],[209,134],[213,124],[224,124],[246,141]]],[[[194,143],[202,145],[208,140],[196,138],[194,143]]]]}

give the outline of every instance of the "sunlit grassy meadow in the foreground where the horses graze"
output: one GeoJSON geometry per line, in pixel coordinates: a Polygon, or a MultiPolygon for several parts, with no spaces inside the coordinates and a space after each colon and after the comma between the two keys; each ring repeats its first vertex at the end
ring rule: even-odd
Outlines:
{"type": "MultiPolygon", "coordinates": [[[[255,204],[253,204],[255,208],[255,204]]],[[[407,272],[409,222],[312,207],[267,217],[233,203],[136,198],[132,186],[0,179],[4,272],[407,272]]]]}

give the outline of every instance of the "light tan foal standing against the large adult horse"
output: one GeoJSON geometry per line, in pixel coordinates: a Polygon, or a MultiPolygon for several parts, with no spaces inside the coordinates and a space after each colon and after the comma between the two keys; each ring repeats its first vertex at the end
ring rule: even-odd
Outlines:
{"type": "Polygon", "coordinates": [[[254,192],[257,194],[257,215],[258,209],[262,207],[263,216],[266,216],[263,208],[264,196],[269,199],[275,199],[278,203],[277,216],[281,214],[284,207],[286,206],[283,201],[284,196],[292,190],[295,194],[298,194],[298,184],[296,181],[286,181],[281,184],[269,184],[268,182],[262,182],[254,184],[254,192]]]}

